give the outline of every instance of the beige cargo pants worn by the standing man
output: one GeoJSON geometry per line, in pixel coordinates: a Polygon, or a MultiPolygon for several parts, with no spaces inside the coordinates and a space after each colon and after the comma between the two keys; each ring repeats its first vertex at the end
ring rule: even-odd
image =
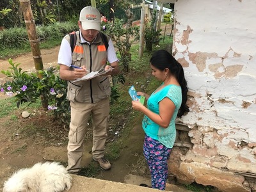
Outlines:
{"type": "Polygon", "coordinates": [[[69,173],[77,173],[81,169],[83,141],[86,134],[88,118],[92,113],[93,122],[93,159],[104,156],[109,119],[109,98],[97,103],[84,104],[70,102],[71,120],[68,133],[68,166],[69,173]]]}

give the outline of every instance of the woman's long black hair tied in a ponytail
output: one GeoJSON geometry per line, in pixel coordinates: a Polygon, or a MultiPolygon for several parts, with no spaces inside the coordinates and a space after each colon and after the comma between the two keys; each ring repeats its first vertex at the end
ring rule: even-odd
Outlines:
{"type": "Polygon", "coordinates": [[[175,58],[173,58],[170,52],[163,49],[158,50],[152,54],[152,57],[150,58],[150,63],[159,70],[169,68],[171,74],[173,74],[173,76],[175,76],[179,81],[182,91],[182,102],[177,116],[180,117],[184,115],[184,113],[189,111],[189,108],[186,105],[186,102],[188,100],[188,86],[184,76],[183,67],[177,60],[175,60],[175,58]]]}

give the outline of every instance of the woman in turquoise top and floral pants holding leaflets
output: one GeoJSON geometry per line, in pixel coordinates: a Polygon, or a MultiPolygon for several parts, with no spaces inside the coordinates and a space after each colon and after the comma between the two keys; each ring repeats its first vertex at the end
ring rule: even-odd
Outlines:
{"type": "Polygon", "coordinates": [[[151,95],[137,93],[145,96],[148,108],[134,100],[132,108],[145,114],[142,122],[145,131],[143,154],[150,169],[152,188],[164,190],[167,161],[176,137],[175,118],[189,111],[186,106],[188,87],[182,66],[169,52],[154,52],[150,67],[152,75],[163,83],[151,95]]]}

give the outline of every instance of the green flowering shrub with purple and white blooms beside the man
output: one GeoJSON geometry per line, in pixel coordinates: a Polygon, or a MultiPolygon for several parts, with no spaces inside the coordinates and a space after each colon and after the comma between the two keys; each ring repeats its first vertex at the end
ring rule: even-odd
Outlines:
{"type": "Polygon", "coordinates": [[[63,118],[68,118],[70,114],[69,102],[66,99],[67,81],[56,75],[57,68],[39,70],[37,74],[22,72],[20,63],[13,63],[11,59],[8,61],[10,70],[1,70],[8,80],[0,84],[0,91],[15,97],[18,108],[23,102],[36,102],[40,98],[44,109],[54,110],[54,115],[65,122],[63,118]]]}

